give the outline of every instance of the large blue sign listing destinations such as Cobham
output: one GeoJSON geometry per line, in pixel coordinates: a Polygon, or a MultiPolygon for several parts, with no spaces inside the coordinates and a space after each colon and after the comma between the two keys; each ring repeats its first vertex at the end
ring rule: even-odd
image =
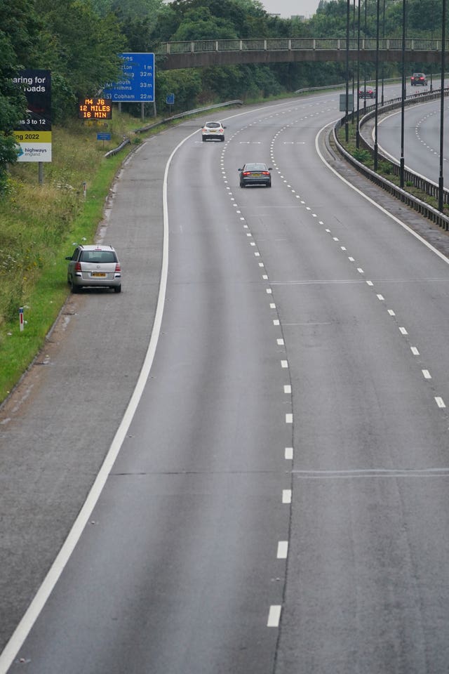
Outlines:
{"type": "Polygon", "coordinates": [[[108,84],[104,98],[117,103],[154,103],[154,54],[147,52],[120,54],[123,79],[108,84]]]}

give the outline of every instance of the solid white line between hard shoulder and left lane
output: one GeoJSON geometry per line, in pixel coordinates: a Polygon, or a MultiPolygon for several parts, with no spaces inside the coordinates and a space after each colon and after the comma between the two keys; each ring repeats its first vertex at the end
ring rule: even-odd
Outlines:
{"type": "MultiPolygon", "coordinates": [[[[197,131],[194,131],[194,133],[197,133],[197,131]]],[[[65,539],[65,542],[62,544],[62,548],[60,549],[58,555],[56,556],[55,561],[51,565],[51,568],[49,569],[45,579],[43,579],[43,582],[39,590],[37,590],[36,595],[34,595],[34,598],[31,604],[29,604],[27,611],[25,612],[18,626],[15,628],[3,652],[1,652],[0,654],[0,674],[6,674],[8,669],[11,667],[11,664],[13,663],[15,656],[17,656],[18,651],[23,645],[23,642],[25,642],[25,639],[27,638],[30,630],[32,629],[32,626],[36,622],[36,619],[38,618],[44,605],[46,604],[48,597],[51,595],[53,588],[58,582],[58,579],[62,574],[65,565],[69,561],[70,555],[72,555],[76,543],[78,543],[79,538],[83,532],[83,529],[84,527],[86,527],[86,524],[89,518],[91,517],[93,508],[95,508],[95,504],[97,503],[98,498],[100,497],[100,494],[102,492],[102,489],[105,486],[107,477],[109,476],[112,466],[114,465],[114,461],[116,460],[119,454],[121,444],[125,439],[130,423],[133,420],[135,410],[137,409],[140,398],[142,397],[142,392],[145,388],[145,384],[147,383],[149,371],[152,368],[154,354],[156,352],[156,346],[159,341],[159,333],[161,331],[161,323],[163,315],[163,305],[166,297],[167,277],[168,277],[168,211],[167,211],[168,169],[170,168],[170,164],[175,155],[175,152],[177,152],[177,150],[181,147],[183,143],[185,143],[186,140],[192,138],[192,136],[194,136],[194,133],[191,133],[184,140],[178,143],[178,145],[175,147],[173,152],[170,154],[170,157],[168,157],[166,169],[163,176],[163,253],[162,253],[162,267],[161,267],[161,283],[159,285],[159,295],[156,304],[156,313],[154,315],[154,325],[152,329],[152,334],[149,340],[147,354],[145,355],[145,361],[142,365],[142,369],[140,371],[138,381],[135,385],[133,395],[130,398],[128,407],[126,408],[125,414],[123,415],[123,419],[119,425],[119,428],[116,431],[116,434],[114,435],[114,440],[112,440],[112,444],[109,447],[109,451],[105,456],[105,460],[102,463],[100,471],[97,477],[95,478],[95,482],[91,487],[91,491],[89,491],[86,501],[84,501],[83,506],[79,512],[79,515],[78,517],[76,517],[76,520],[72,525],[72,529],[70,529],[69,534],[65,539]]]]}

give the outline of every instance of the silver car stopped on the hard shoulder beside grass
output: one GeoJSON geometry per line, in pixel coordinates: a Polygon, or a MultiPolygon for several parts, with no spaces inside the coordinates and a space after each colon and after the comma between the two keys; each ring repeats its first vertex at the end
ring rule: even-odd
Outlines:
{"type": "Polygon", "coordinates": [[[72,293],[81,288],[113,288],[121,291],[121,267],[112,246],[76,246],[67,267],[67,283],[72,293]]]}

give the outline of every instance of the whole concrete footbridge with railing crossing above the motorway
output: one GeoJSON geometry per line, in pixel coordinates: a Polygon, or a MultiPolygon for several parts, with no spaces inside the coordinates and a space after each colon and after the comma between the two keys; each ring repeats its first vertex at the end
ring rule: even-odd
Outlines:
{"type": "MultiPolygon", "coordinates": [[[[441,40],[406,39],[404,58],[407,62],[441,64],[441,40]]],[[[261,38],[246,40],[198,40],[159,42],[152,47],[161,70],[197,68],[239,63],[345,62],[345,38],[261,38]]],[[[403,43],[400,38],[382,38],[378,44],[380,62],[401,62],[403,43]]],[[[445,40],[445,53],[449,41],[445,40]]],[[[375,62],[377,41],[349,39],[349,60],[375,62]]]]}

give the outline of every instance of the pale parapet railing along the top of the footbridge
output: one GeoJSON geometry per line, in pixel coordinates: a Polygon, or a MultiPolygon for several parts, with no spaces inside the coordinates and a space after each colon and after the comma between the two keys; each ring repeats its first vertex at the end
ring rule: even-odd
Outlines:
{"type": "MultiPolygon", "coordinates": [[[[349,51],[358,50],[358,39],[349,38],[349,51]]],[[[441,40],[406,39],[406,51],[441,51],[441,40]]],[[[157,55],[204,53],[208,51],[292,51],[292,50],[346,50],[346,38],[251,38],[234,40],[187,40],[183,42],[160,42],[153,51],[157,55]]],[[[375,51],[377,41],[374,38],[360,40],[361,51],[375,51]]],[[[382,38],[380,51],[400,51],[402,40],[382,38]]],[[[449,51],[449,40],[445,40],[445,49],[449,51]]]]}

